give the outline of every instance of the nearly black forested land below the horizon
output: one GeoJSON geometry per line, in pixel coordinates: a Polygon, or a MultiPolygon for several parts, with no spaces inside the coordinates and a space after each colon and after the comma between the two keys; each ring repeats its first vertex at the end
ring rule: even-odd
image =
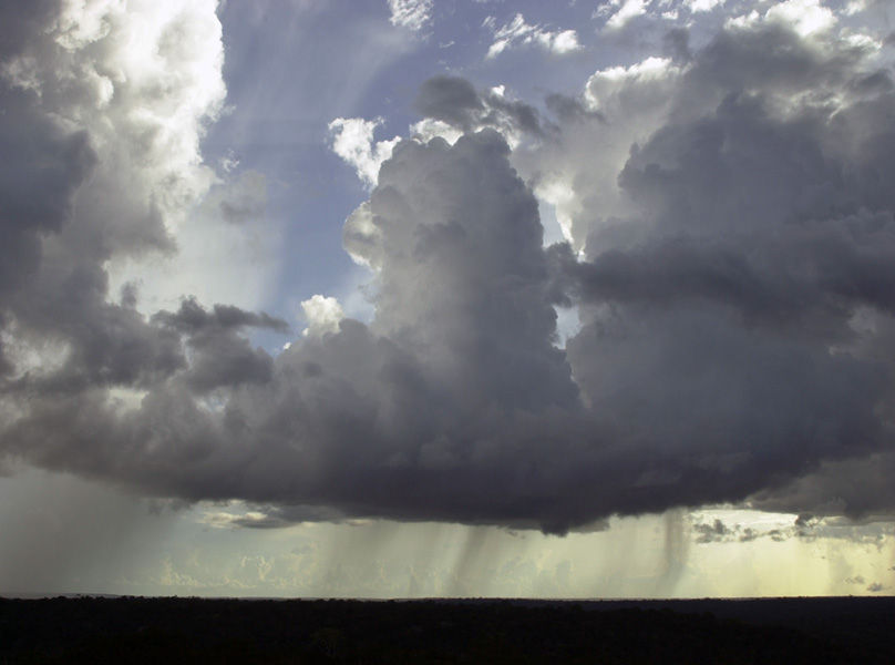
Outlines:
{"type": "Polygon", "coordinates": [[[895,663],[895,598],[0,598],[7,663],[895,663]]]}

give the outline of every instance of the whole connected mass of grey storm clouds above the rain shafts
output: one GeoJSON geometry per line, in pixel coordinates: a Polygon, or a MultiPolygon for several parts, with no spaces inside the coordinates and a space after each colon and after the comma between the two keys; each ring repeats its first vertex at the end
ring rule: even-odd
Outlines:
{"type": "MultiPolygon", "coordinates": [[[[687,59],[598,72],[582,99],[548,100],[553,120],[429,81],[418,109],[465,134],[398,144],[344,227],[374,272],[373,320],[275,358],[246,338],[285,331],[275,317],[111,297],[106,262],[175,250],[176,212],[210,175],[115,105],[141,109],[138,90],[52,79],[72,59],[86,71],[81,33],[17,24],[44,37],[28,61],[24,42],[0,51],[19,63],[0,89],[6,454],[272,503],[284,522],[564,532],[720,501],[895,508],[874,471],[895,467],[895,86],[871,47],[760,21],[693,52],[676,34],[687,59]],[[528,141],[511,151],[501,132],[528,141]],[[557,183],[570,242],[545,248],[535,193],[557,183]],[[583,323],[565,349],[556,305],[583,323]]],[[[206,92],[187,143],[219,106],[206,92]]]]}

